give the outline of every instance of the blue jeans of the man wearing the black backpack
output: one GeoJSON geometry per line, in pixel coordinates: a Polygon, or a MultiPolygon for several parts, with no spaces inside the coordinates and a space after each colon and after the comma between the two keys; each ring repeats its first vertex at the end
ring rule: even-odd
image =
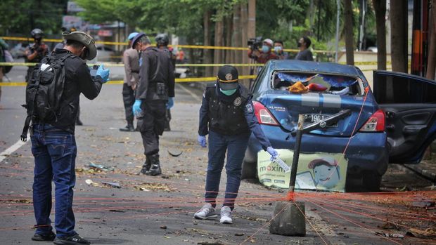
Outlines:
{"type": "Polygon", "coordinates": [[[55,183],[55,228],[57,237],[75,235],[72,213],[72,188],[75,186],[75,135],[49,124],[35,124],[32,154],[34,156],[33,208],[38,234],[50,234],[51,180],[55,183]]]}

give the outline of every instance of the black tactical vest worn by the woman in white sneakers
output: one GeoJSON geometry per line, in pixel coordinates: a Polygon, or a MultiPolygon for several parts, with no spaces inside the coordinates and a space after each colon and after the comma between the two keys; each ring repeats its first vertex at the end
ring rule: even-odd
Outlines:
{"type": "Polygon", "coordinates": [[[223,101],[217,95],[216,84],[209,84],[206,88],[205,98],[209,102],[209,129],[222,135],[238,135],[250,133],[244,107],[251,94],[247,88],[240,86],[239,94],[233,101],[223,101]]]}

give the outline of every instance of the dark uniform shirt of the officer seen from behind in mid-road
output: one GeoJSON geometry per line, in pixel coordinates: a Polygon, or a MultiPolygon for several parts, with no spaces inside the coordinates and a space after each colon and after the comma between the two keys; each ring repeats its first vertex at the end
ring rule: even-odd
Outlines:
{"type": "Polygon", "coordinates": [[[168,97],[174,97],[174,67],[169,55],[150,46],[141,53],[141,58],[136,99],[168,100],[168,97]],[[165,84],[165,93],[157,92],[158,83],[165,84]]]}

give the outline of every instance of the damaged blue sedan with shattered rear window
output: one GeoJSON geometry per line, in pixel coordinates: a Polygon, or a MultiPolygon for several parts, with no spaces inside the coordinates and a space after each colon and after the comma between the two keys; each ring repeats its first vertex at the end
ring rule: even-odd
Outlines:
{"type": "MultiPolygon", "coordinates": [[[[389,77],[392,82],[392,74],[385,72],[375,74],[374,77],[375,86],[380,88],[380,99],[386,100],[387,92],[382,91],[385,86],[380,84],[384,84],[389,77]]],[[[429,86],[433,90],[436,88],[434,84],[429,86]]],[[[402,152],[405,150],[404,145],[403,148],[399,147],[402,145],[399,140],[395,142],[390,139],[390,135],[398,132],[389,128],[397,124],[389,121],[390,118],[404,105],[390,105],[389,108],[394,108],[392,110],[395,112],[385,113],[383,107],[376,102],[364,74],[357,67],[324,62],[271,60],[259,72],[251,91],[259,124],[272,146],[277,149],[294,149],[293,132],[296,131],[299,114],[304,114],[304,124],[313,124],[347,111],[346,117],[341,117],[334,123],[320,124],[321,127],[304,133],[301,145],[304,153],[344,153],[348,161],[347,191],[351,190],[352,185],[370,191],[379,190],[381,178],[390,161],[390,152],[395,149],[394,152],[399,154],[400,149],[402,152]],[[297,83],[303,85],[301,91],[291,93],[290,86],[297,83]]],[[[436,126],[433,126],[436,119],[435,104],[427,107],[432,109],[407,117],[412,124],[420,119],[420,127],[412,125],[409,129],[419,128],[421,135],[424,133],[426,136],[419,145],[416,145],[417,142],[409,142],[415,144],[416,151],[409,152],[409,159],[404,159],[405,161],[421,160],[425,147],[436,137],[436,126]]],[[[242,178],[257,177],[259,150],[261,147],[252,136],[245,152],[242,178]]]]}

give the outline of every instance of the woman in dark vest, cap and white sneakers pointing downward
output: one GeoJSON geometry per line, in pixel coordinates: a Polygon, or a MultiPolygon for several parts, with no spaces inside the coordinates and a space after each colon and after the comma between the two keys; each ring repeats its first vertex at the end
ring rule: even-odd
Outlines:
{"type": "Polygon", "coordinates": [[[214,208],[227,152],[226,192],[219,222],[233,223],[231,212],[238,196],[242,161],[251,133],[271,157],[278,156],[259,126],[251,99],[250,91],[238,83],[238,70],[231,65],[221,67],[217,82],[205,89],[198,128],[198,143],[202,147],[206,147],[206,135],[209,134],[205,205],[195,213],[194,218],[205,220],[217,217],[214,208]]]}

